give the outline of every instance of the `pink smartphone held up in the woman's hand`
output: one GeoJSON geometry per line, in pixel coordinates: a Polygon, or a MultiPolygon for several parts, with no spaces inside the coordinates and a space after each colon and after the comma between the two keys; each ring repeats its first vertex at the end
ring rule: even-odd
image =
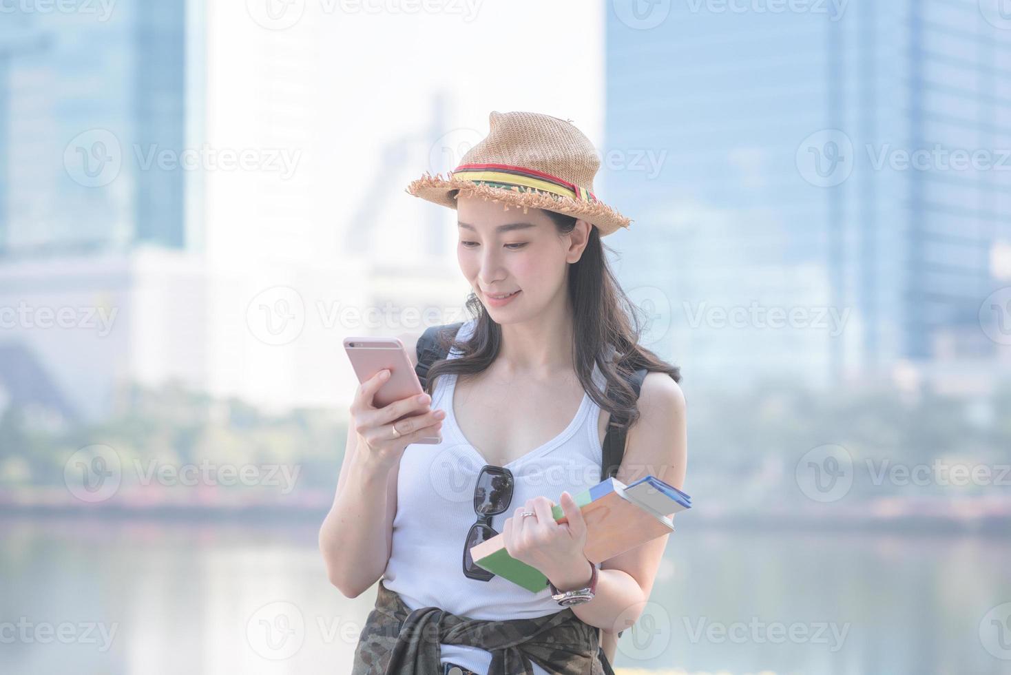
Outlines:
{"type": "MultiPolygon", "coordinates": [[[[410,365],[407,350],[398,338],[345,338],[344,350],[351,359],[351,366],[359,382],[368,380],[383,369],[390,377],[372,398],[372,405],[385,407],[394,401],[425,393],[415,367],[410,365]]],[[[394,421],[413,415],[404,415],[394,421]]],[[[439,444],[442,436],[422,437],[415,443],[439,444]]]]}

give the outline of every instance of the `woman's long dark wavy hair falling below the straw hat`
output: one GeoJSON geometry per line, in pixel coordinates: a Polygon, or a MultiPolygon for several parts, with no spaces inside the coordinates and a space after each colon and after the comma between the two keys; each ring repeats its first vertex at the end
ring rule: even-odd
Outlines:
{"type": "MultiPolygon", "coordinates": [[[[574,216],[548,210],[545,213],[554,221],[560,235],[575,227],[574,216]]],[[[626,379],[645,368],[650,372],[666,373],[674,382],[680,382],[680,369],[639,346],[643,326],[638,313],[641,310],[625,295],[611,272],[600,230],[595,226],[590,226],[589,230],[589,242],[579,260],[571,264],[568,275],[575,335],[573,366],[582,388],[589,392],[593,401],[608,410],[614,421],[631,425],[639,418],[639,406],[626,379]],[[594,362],[607,378],[604,393],[591,377],[594,362]]],[[[456,342],[448,331],[440,335],[444,347],[451,347],[461,356],[432,364],[427,382],[430,395],[440,375],[480,373],[498,356],[501,326],[488,315],[473,292],[467,296],[466,307],[471,317],[477,319],[475,329],[470,338],[461,342],[456,342]]]]}

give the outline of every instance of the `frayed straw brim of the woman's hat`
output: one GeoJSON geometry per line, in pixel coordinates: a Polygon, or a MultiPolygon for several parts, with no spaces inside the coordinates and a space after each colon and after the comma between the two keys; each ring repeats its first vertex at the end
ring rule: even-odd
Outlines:
{"type": "Polygon", "coordinates": [[[521,190],[517,186],[513,186],[512,189],[497,188],[461,178],[443,178],[441,174],[433,176],[426,173],[421,178],[411,181],[404,189],[409,195],[455,209],[456,200],[449,194],[453,190],[460,190],[468,196],[481,197],[485,201],[491,199],[502,202],[505,208],[509,208],[510,205],[522,207],[524,213],[528,208],[542,208],[582,218],[586,222],[596,225],[601,236],[607,236],[622,227],[627,228],[632,223],[632,218],[622,215],[604,202],[579,201],[571,197],[546,192],[521,190]]]}

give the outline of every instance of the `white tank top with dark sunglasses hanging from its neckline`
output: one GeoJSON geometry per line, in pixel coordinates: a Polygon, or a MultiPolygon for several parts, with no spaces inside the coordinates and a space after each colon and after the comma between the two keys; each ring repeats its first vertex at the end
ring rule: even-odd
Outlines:
{"type": "MultiPolygon", "coordinates": [[[[476,319],[465,322],[459,340],[469,336],[476,319]]],[[[460,355],[451,351],[447,356],[460,355]]],[[[463,544],[477,519],[474,486],[485,462],[464,438],[453,415],[456,375],[441,376],[433,391],[432,409],[446,411],[440,445],[412,444],[404,450],[397,476],[397,508],[389,563],[379,583],[400,594],[413,611],[440,607],[461,616],[502,620],[531,618],[563,610],[551,589],[532,593],[494,576],[490,581],[463,574],[463,544]]],[[[593,381],[604,391],[606,380],[594,364],[593,381]]],[[[546,496],[555,503],[563,490],[575,494],[601,482],[603,439],[598,431],[600,406],[586,393],[575,416],[561,433],[504,465],[513,472],[513,500],[492,516],[502,531],[505,518],[528,499],[546,496]]],[[[598,565],[600,567],[600,565],[598,565]]],[[[460,645],[442,645],[442,663],[452,662],[487,673],[491,653],[460,645]]],[[[536,675],[548,673],[533,664],[536,675]]]]}

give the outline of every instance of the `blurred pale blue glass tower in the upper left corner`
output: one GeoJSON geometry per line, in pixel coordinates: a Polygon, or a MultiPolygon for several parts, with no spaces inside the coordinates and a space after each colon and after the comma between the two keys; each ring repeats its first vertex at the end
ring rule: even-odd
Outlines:
{"type": "Polygon", "coordinates": [[[72,4],[4,13],[0,251],[182,248],[186,0],[72,4]]]}

